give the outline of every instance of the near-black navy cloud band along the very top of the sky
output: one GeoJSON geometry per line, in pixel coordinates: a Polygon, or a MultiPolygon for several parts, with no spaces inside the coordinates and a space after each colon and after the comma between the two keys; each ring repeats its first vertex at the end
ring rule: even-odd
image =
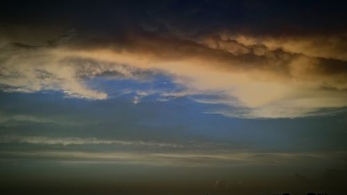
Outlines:
{"type": "Polygon", "coordinates": [[[334,1],[8,1],[1,23],[75,24],[94,31],[137,27],[194,36],[223,30],[316,35],[346,31],[344,6],[334,1]]]}

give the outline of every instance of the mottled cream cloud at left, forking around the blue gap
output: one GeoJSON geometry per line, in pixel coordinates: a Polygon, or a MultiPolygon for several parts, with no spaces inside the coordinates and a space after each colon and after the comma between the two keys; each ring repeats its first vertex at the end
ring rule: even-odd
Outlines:
{"type": "Polygon", "coordinates": [[[85,78],[105,76],[140,80],[149,70],[113,62],[62,55],[58,49],[7,50],[2,61],[0,84],[5,92],[38,92],[58,90],[68,97],[106,99],[108,94],[87,87],[85,78]]]}

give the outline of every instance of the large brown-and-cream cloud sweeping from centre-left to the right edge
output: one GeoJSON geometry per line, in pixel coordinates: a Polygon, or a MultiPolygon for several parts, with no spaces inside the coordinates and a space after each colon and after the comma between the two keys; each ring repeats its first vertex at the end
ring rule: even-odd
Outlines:
{"type": "Polygon", "coordinates": [[[81,51],[81,55],[99,51],[103,59],[162,69],[189,91],[228,96],[223,102],[215,99],[215,103],[250,108],[246,117],[303,117],[323,108],[346,106],[344,61],[271,50],[264,45],[249,46],[249,53],[236,55],[174,37],[140,34],[125,40],[130,41],[120,48],[100,49],[99,45],[95,50],[81,51]]]}

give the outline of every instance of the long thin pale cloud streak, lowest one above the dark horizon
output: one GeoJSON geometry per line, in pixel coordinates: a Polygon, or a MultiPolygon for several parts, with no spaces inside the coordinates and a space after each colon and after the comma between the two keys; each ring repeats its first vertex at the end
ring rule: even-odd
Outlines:
{"type": "Polygon", "coordinates": [[[230,153],[153,153],[153,152],[82,152],[82,151],[0,151],[1,158],[35,157],[55,158],[66,163],[121,163],[146,164],[170,167],[246,167],[246,166],[291,166],[291,164],[321,164],[331,162],[335,153],[260,153],[232,151],[230,153]],[[196,164],[196,162],[199,162],[196,164]],[[319,162],[319,163],[315,163],[319,162]]]}

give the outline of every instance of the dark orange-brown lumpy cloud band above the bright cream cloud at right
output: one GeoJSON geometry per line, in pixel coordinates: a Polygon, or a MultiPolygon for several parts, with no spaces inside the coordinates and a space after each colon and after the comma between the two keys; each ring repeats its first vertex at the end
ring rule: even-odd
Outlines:
{"type": "MultiPolygon", "coordinates": [[[[68,45],[68,48],[90,51],[110,49],[117,53],[127,52],[146,56],[160,62],[178,60],[199,62],[198,59],[201,59],[202,66],[221,71],[261,71],[271,75],[269,80],[310,80],[313,78],[319,85],[323,85],[322,87],[334,87],[334,85],[346,87],[347,62],[343,53],[344,49],[336,49],[337,53],[333,53],[335,47],[332,46],[332,49],[329,50],[331,55],[327,54],[328,52],[321,55],[321,51],[311,55],[305,53],[306,48],[296,49],[296,46],[301,47],[301,41],[306,40],[289,43],[286,39],[285,41],[280,40],[278,45],[283,43],[294,47],[293,51],[286,51],[281,46],[271,47],[262,42],[246,44],[238,39],[242,39],[242,37],[235,38],[235,40],[223,40],[221,37],[213,35],[202,40],[183,40],[172,35],[130,31],[127,34],[76,41],[68,45]],[[335,54],[337,56],[334,56],[335,54]],[[297,65],[298,63],[303,65],[297,65]]],[[[269,42],[271,44],[278,40],[271,38],[269,42]]],[[[314,44],[314,41],[305,46],[319,47],[314,44]]]]}

